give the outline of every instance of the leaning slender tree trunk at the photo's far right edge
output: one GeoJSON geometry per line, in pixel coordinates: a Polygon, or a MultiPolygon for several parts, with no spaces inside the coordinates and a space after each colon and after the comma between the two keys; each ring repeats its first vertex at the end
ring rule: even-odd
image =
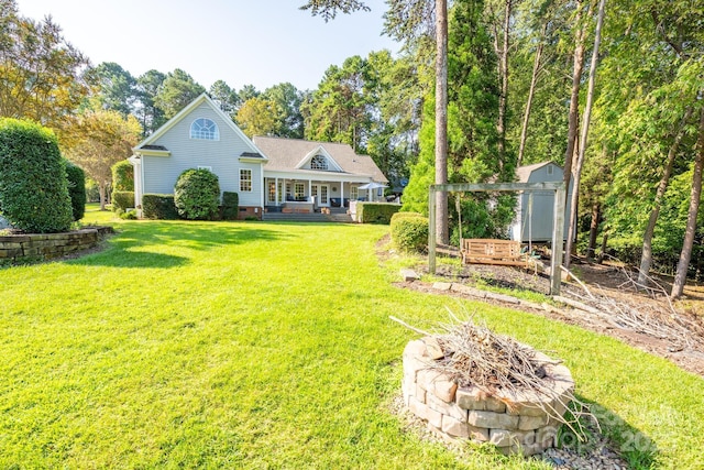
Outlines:
{"type": "Polygon", "coordinates": [[[686,272],[692,259],[692,247],[694,245],[694,236],[696,233],[696,215],[700,210],[700,199],[702,197],[702,167],[704,167],[704,109],[700,111],[700,130],[696,146],[690,211],[686,218],[686,229],[684,230],[684,242],[682,243],[682,252],[678,262],[678,271],[672,283],[672,293],[670,294],[672,298],[682,296],[684,292],[686,272]]]}

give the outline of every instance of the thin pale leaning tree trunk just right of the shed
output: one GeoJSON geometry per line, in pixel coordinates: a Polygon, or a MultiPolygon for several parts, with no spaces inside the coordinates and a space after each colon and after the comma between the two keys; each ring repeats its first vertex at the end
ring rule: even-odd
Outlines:
{"type": "MultiPolygon", "coordinates": [[[[590,66],[590,83],[586,91],[586,105],[584,107],[584,118],[582,119],[582,135],[580,136],[580,147],[574,165],[574,186],[570,204],[570,225],[568,227],[568,242],[564,248],[564,266],[570,267],[570,255],[572,245],[576,238],[576,216],[579,210],[580,181],[582,178],[582,167],[584,166],[584,155],[586,153],[586,140],[590,132],[590,121],[592,118],[592,106],[594,103],[594,86],[596,83],[596,67],[598,65],[598,46],[602,43],[602,26],[604,25],[604,11],[606,0],[600,0],[598,13],[596,17],[596,30],[594,31],[594,48],[592,50],[592,65],[590,66]]],[[[582,46],[584,42],[582,42],[582,46]]],[[[579,95],[579,94],[578,94],[579,95]]]]}

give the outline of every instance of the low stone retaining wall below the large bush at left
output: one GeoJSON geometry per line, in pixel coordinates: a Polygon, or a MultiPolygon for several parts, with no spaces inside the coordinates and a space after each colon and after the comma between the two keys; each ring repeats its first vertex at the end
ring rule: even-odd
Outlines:
{"type": "Polygon", "coordinates": [[[0,261],[59,258],[94,248],[103,236],[112,232],[112,227],[91,227],[63,233],[0,236],[0,261]]]}

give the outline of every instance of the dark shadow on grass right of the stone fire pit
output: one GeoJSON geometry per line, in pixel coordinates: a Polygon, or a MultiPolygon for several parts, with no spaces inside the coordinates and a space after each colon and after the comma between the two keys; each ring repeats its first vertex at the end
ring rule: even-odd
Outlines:
{"type": "MultiPolygon", "coordinates": [[[[624,418],[613,411],[606,408],[598,403],[588,402],[583,396],[576,396],[578,400],[588,404],[590,412],[597,419],[601,433],[591,418],[582,418],[587,431],[587,440],[582,442],[571,430],[564,430],[558,435],[558,447],[574,449],[579,453],[592,453],[601,451],[600,436],[608,439],[608,447],[618,453],[622,459],[628,462],[631,469],[651,469],[656,466],[656,457],[658,456],[658,447],[648,436],[629,425],[624,418]]],[[[662,422],[668,419],[662,416],[662,422]]]]}

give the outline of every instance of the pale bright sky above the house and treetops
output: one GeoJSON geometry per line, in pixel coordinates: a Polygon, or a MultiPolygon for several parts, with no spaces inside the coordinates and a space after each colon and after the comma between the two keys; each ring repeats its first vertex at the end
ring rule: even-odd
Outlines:
{"type": "Polygon", "coordinates": [[[117,62],[135,77],[183,68],[209,88],[264,90],[282,81],[315,89],[330,65],[399,46],[382,36],[384,0],[371,12],[326,23],[298,10],[305,0],[16,0],[35,20],[51,14],[94,64],[117,62]]]}

